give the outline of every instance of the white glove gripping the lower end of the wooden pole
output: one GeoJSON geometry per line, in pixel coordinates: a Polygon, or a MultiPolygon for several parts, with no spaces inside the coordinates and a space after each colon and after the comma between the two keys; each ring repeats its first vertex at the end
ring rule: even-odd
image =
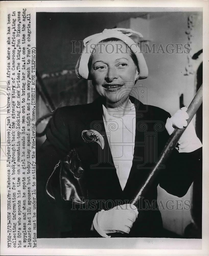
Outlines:
{"type": "Polygon", "coordinates": [[[96,213],[93,220],[95,230],[102,237],[106,233],[129,233],[138,216],[137,207],[131,204],[118,205],[110,210],[101,210],[96,213]]]}

